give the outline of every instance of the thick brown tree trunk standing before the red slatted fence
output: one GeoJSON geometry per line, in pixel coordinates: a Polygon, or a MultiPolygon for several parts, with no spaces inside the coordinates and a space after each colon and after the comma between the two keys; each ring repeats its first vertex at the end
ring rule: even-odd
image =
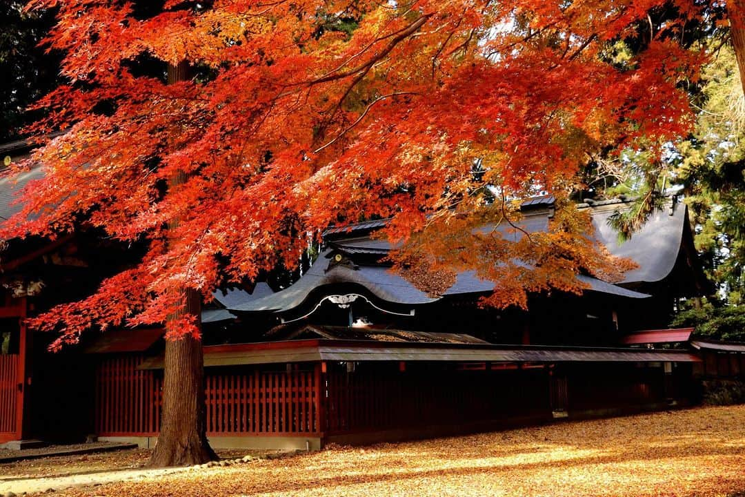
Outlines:
{"type": "MultiPolygon", "coordinates": [[[[168,66],[168,83],[186,80],[188,66],[180,63],[168,66]]],[[[186,183],[186,174],[179,171],[168,182],[169,191],[186,183]]],[[[172,219],[168,229],[179,226],[172,219]]],[[[191,288],[174,288],[181,301],[180,308],[168,316],[168,322],[191,314],[200,323],[202,299],[191,288]]],[[[217,459],[207,442],[204,396],[204,358],[202,341],[187,335],[180,340],[165,342],[165,366],[162,393],[160,434],[149,466],[187,466],[217,459]]]]}

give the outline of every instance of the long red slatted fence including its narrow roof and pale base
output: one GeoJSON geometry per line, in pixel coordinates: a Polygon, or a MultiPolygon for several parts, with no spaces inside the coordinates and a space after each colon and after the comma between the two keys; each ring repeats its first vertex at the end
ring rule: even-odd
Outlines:
{"type": "MultiPolygon", "coordinates": [[[[208,436],[217,447],[317,449],[659,407],[685,399],[697,361],[684,351],[577,347],[329,340],[207,346],[208,436]]],[[[101,355],[99,437],[153,442],[161,368],[162,358],[142,353],[101,355]]]]}

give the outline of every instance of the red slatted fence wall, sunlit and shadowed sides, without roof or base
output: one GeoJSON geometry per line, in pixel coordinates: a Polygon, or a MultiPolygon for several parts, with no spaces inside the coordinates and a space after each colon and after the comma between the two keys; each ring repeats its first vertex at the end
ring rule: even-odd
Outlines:
{"type": "MultiPolygon", "coordinates": [[[[97,434],[157,434],[162,371],[137,370],[141,362],[137,355],[119,355],[98,365],[97,434]]],[[[548,419],[552,408],[646,405],[669,395],[660,367],[635,364],[557,367],[553,373],[560,376],[560,391],[556,384],[551,387],[545,367],[504,369],[484,364],[469,369],[393,361],[358,363],[349,369],[345,363],[325,366],[207,368],[208,434],[326,437],[469,426],[548,419]]]]}

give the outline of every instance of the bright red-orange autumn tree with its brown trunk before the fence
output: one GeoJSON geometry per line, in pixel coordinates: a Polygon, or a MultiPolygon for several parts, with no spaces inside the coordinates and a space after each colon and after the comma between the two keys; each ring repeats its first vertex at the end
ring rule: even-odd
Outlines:
{"type": "Polygon", "coordinates": [[[12,166],[40,162],[45,177],[0,237],[86,224],[148,243],[139,265],[31,325],[60,332],[59,347],[92,327],[166,323],[158,465],[214,457],[200,298],[294,264],[329,224],[393,217],[384,235],[410,242],[399,270],[436,292],[475,269],[496,282],[496,306],[581,291],[580,271],[617,278],[624,264],[568,202],[577,170],[589,153],[662,153],[686,133],[682,83],[706,61],[677,42],[706,7],[689,0],[155,3],[29,4],[57,9],[46,43],[66,78],[30,131],[69,132],[12,166]],[[679,22],[614,65],[613,42],[663,4],[679,22]],[[475,229],[517,226],[510,199],[536,189],[557,197],[548,233],[475,229]]]}

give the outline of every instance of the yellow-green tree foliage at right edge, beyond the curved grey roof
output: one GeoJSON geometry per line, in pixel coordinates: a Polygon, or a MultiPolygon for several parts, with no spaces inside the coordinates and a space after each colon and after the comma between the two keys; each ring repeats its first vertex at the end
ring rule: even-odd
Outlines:
{"type": "MultiPolygon", "coordinates": [[[[647,30],[659,29],[678,14],[654,10],[647,30]]],[[[738,323],[745,315],[745,96],[738,44],[733,43],[737,30],[735,25],[729,29],[726,14],[722,4],[707,5],[701,22],[682,39],[684,45],[711,54],[701,77],[685,83],[695,113],[691,133],[662,144],[662,155],[650,151],[650,144],[601,153],[583,169],[587,183],[583,194],[596,198],[626,194],[637,199],[633,209],[613,219],[622,237],[633,236],[667,200],[666,189],[682,194],[700,261],[717,292],[703,305],[698,299],[682,303],[683,312],[673,317],[671,326],[695,326],[701,335],[736,340],[743,338],[738,323]]],[[[615,48],[618,63],[630,60],[638,49],[633,39],[618,42],[615,48]]]]}

